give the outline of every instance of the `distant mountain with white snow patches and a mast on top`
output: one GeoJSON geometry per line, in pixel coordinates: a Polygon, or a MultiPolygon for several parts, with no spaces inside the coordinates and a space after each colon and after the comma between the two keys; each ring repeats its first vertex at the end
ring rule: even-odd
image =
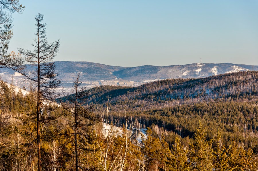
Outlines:
{"type": "MultiPolygon", "coordinates": [[[[193,63],[187,65],[129,67],[114,71],[118,78],[137,82],[168,78],[200,78],[212,75],[252,70],[251,65],[237,65],[232,63],[193,63]]],[[[258,66],[254,66],[258,70],[258,66]]]]}

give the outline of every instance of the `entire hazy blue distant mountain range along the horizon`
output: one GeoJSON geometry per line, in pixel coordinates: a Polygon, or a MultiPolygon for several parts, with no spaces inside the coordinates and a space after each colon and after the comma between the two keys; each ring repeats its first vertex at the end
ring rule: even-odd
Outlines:
{"type": "MultiPolygon", "coordinates": [[[[81,73],[83,85],[91,88],[100,85],[139,86],[146,82],[161,79],[200,78],[252,69],[258,71],[258,66],[232,63],[119,67],[93,62],[57,61],[55,65],[56,72],[59,73],[58,78],[62,79],[63,86],[66,88],[71,87],[78,73],[81,73]]],[[[33,70],[35,70],[33,66],[28,66],[28,72],[33,70]]],[[[25,85],[26,88],[30,86],[30,83],[24,77],[10,69],[0,69],[0,75],[3,81],[13,82],[15,86],[22,87],[25,85]]]]}

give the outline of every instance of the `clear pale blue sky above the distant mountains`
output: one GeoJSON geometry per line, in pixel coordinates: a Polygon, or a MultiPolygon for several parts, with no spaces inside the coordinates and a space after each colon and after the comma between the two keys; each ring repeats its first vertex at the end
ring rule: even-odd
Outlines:
{"type": "Polygon", "coordinates": [[[107,65],[258,65],[258,1],[20,0],[9,50],[32,49],[35,15],[44,14],[54,61],[107,65]]]}

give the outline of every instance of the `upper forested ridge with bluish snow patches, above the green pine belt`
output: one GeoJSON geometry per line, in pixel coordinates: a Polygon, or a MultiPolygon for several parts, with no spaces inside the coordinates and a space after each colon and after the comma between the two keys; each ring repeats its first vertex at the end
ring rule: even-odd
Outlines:
{"type": "MultiPolygon", "coordinates": [[[[214,100],[257,99],[258,72],[243,71],[198,79],[165,79],[138,87],[99,86],[87,90],[88,104],[147,110],[214,100]]],[[[64,100],[64,99],[63,99],[64,100]]]]}

